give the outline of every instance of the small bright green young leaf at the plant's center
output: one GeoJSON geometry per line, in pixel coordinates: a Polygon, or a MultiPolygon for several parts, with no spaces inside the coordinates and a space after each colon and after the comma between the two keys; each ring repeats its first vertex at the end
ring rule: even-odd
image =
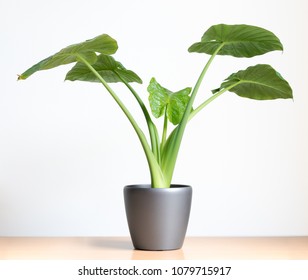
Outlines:
{"type": "Polygon", "coordinates": [[[167,108],[167,117],[170,122],[177,125],[184,114],[189,101],[191,88],[185,88],[172,92],[162,87],[155,78],[152,78],[148,86],[150,107],[154,117],[161,117],[167,108]]]}

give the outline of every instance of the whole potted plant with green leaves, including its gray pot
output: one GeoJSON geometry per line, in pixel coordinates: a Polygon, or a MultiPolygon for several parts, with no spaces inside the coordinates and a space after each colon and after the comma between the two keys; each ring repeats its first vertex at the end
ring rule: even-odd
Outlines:
{"type": "Polygon", "coordinates": [[[250,25],[218,24],[211,26],[200,42],[189,47],[189,52],[210,55],[193,88],[172,92],[152,78],[147,88],[151,112],[163,117],[162,133],[158,133],[149,110],[131,83],[142,83],[141,78],[126,69],[111,55],[117,51],[117,42],[103,34],[85,42],[70,45],[33,65],[18,80],[27,79],[40,70],[75,63],[66,80],[99,82],[111,94],[128,118],[145,153],[151,182],[124,187],[124,199],[129,229],[134,247],[145,250],[171,250],[182,246],[186,234],[192,188],[172,184],[186,125],[203,108],[223,93],[255,100],[292,98],[288,82],[270,65],[258,64],[227,77],[214,89],[209,98],[194,104],[201,82],[217,55],[253,57],[275,50],[283,50],[280,40],[270,31],[250,25]],[[136,99],[148,127],[142,131],[110,83],[123,83],[136,99]],[[171,125],[169,124],[171,123],[171,125]]]}

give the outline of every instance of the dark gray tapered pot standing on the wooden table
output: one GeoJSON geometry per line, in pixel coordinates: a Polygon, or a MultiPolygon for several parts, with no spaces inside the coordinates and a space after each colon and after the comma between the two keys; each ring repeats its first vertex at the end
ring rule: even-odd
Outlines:
{"type": "Polygon", "coordinates": [[[192,188],[171,185],[124,187],[128,227],[135,249],[175,250],[182,247],[189,220],[192,188]]]}

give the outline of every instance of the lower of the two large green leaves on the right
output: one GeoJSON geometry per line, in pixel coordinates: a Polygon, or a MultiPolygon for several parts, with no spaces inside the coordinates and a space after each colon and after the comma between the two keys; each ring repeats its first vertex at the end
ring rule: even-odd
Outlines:
{"type": "Polygon", "coordinates": [[[241,97],[256,100],[293,98],[289,83],[267,64],[258,64],[233,73],[213,93],[226,88],[241,97]]]}

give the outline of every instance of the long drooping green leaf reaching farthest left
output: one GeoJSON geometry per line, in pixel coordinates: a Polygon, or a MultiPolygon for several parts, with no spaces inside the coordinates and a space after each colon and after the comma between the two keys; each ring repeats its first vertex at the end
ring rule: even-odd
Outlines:
{"type": "Polygon", "coordinates": [[[43,59],[19,75],[18,80],[25,80],[40,70],[47,70],[60,65],[76,62],[78,61],[78,56],[82,56],[90,64],[93,64],[97,59],[96,53],[110,55],[114,54],[117,49],[118,45],[116,40],[107,34],[102,34],[91,40],[70,45],[56,54],[43,59]]]}

